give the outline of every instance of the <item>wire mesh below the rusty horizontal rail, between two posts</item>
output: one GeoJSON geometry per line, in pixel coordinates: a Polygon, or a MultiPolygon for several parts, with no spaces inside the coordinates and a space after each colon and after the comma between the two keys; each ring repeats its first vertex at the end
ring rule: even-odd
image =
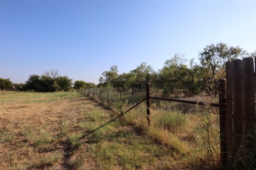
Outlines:
{"type": "MultiPolygon", "coordinates": [[[[182,120],[178,120],[179,123],[175,127],[176,130],[184,133],[193,133],[198,131],[204,124],[209,124],[212,129],[219,129],[219,108],[212,107],[207,103],[202,106],[198,104],[186,104],[180,102],[170,102],[163,100],[151,100],[150,113],[154,117],[164,117],[168,115],[174,118],[170,120],[170,125],[175,123],[178,117],[182,117],[182,120]],[[175,115],[176,117],[173,117],[175,115]]],[[[168,119],[168,117],[164,118],[168,119]]],[[[168,125],[167,125],[168,126],[168,125]]]]}

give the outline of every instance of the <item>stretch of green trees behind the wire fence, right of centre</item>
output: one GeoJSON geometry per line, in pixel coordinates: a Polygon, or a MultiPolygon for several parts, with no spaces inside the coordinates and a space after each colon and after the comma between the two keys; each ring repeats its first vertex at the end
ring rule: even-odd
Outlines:
{"type": "Polygon", "coordinates": [[[248,53],[242,48],[228,47],[225,43],[206,45],[199,51],[199,64],[194,59],[188,61],[185,55],[175,54],[164,63],[164,67],[155,71],[152,66],[142,63],[128,73],[118,74],[118,66],[110,67],[99,78],[99,87],[112,88],[142,87],[150,83],[154,86],[168,87],[171,91],[177,88],[194,87],[202,91],[202,87],[211,91],[220,78],[226,76],[226,61],[256,57],[256,51],[248,53]],[[201,87],[201,89],[200,89],[201,87]]]}

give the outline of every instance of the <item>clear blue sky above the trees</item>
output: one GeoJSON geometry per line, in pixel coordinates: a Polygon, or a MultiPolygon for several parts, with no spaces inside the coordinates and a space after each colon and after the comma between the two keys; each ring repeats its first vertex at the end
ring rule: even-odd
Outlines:
{"type": "Polygon", "coordinates": [[[57,69],[98,84],[142,62],[156,71],[211,43],[256,49],[256,1],[0,1],[0,77],[24,83],[57,69]]]}

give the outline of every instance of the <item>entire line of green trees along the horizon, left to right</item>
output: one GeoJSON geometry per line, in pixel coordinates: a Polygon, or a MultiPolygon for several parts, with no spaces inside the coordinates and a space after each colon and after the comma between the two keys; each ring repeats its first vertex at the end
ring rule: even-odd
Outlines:
{"type": "MultiPolygon", "coordinates": [[[[226,76],[226,61],[256,57],[256,50],[248,53],[242,48],[228,47],[225,43],[206,45],[199,51],[199,64],[194,59],[187,60],[185,55],[175,54],[165,61],[162,69],[155,71],[146,63],[141,63],[128,73],[118,74],[118,66],[110,66],[99,78],[98,88],[143,87],[150,83],[154,86],[168,87],[171,91],[184,87],[204,87],[208,91],[214,89],[217,81],[226,76]]],[[[96,84],[77,80],[72,83],[68,76],[60,76],[58,70],[44,72],[42,76],[32,74],[25,84],[13,84],[10,79],[0,79],[1,90],[33,90],[35,92],[69,91],[72,88],[95,88],[96,84]]],[[[199,91],[202,89],[199,89],[199,91]]]]}

